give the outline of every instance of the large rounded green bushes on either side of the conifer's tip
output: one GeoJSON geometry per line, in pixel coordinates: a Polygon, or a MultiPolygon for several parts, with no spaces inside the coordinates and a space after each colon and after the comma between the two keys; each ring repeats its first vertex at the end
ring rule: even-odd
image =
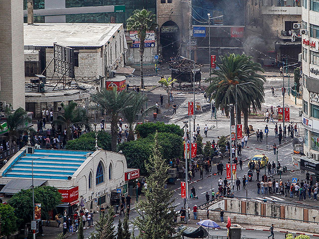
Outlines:
{"type": "MultiPolygon", "coordinates": [[[[142,175],[147,174],[145,162],[149,162],[152,154],[154,137],[155,134],[151,134],[147,138],[140,138],[119,145],[119,150],[122,150],[128,167],[139,168],[142,175]]],[[[183,141],[180,136],[173,133],[158,133],[158,140],[162,158],[165,159],[167,164],[170,159],[183,156],[183,141]]]]}

